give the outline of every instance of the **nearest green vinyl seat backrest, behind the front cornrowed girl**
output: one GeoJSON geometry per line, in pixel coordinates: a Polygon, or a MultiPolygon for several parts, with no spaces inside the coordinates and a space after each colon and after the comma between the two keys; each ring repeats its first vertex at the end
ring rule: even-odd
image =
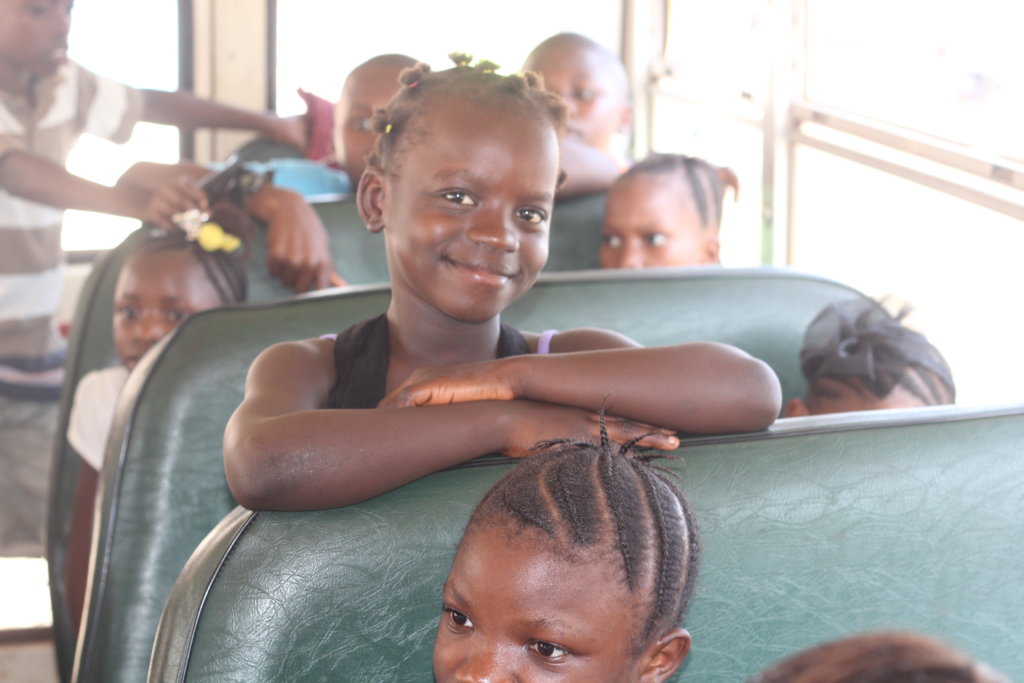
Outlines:
{"type": "MultiPolygon", "coordinates": [[[[677,678],[736,682],[824,640],[936,635],[1024,676],[1024,405],[780,421],[677,472],[702,540],[677,678]],[[966,444],[970,444],[966,447],[966,444]]],[[[489,458],[337,510],[236,509],[167,602],[151,682],[422,681],[489,458]]]]}

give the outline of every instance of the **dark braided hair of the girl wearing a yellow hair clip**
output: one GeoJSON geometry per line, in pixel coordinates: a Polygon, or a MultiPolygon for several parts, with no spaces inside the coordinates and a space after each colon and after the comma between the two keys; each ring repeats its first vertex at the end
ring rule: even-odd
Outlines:
{"type": "Polygon", "coordinates": [[[224,231],[242,241],[242,247],[232,252],[206,251],[199,242],[186,239],[184,231],[174,228],[155,228],[147,238],[132,250],[136,253],[156,253],[170,250],[187,250],[199,262],[207,280],[223,304],[244,302],[248,296],[249,279],[245,262],[249,246],[256,233],[256,224],[242,209],[228,200],[213,205],[210,221],[218,223],[224,231]]]}

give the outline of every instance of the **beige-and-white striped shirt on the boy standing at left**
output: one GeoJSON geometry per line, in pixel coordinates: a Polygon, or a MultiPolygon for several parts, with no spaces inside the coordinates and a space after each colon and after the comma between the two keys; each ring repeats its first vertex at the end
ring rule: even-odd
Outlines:
{"type": "MultiPolygon", "coordinates": [[[[0,91],[0,157],[28,152],[65,165],[83,132],[124,142],[142,114],[142,93],[69,62],[41,79],[35,103],[0,91]]],[[[63,211],[0,188],[0,393],[56,395],[63,344],[60,297],[63,211]]]]}

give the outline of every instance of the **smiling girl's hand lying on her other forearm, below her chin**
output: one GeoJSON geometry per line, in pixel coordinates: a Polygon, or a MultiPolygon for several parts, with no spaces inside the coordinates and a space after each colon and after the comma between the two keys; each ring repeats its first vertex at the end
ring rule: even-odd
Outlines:
{"type": "Polygon", "coordinates": [[[471,400],[513,400],[519,396],[501,361],[418,368],[378,408],[443,405],[471,400]]]}

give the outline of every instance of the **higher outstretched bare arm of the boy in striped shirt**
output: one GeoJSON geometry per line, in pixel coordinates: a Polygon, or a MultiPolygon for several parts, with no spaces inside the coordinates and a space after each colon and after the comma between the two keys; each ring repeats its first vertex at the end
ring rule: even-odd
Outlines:
{"type": "Polygon", "coordinates": [[[250,112],[203,99],[183,90],[142,90],[142,95],[145,101],[143,121],[186,128],[245,128],[305,152],[306,129],[302,117],[283,119],[270,113],[250,112]]]}

